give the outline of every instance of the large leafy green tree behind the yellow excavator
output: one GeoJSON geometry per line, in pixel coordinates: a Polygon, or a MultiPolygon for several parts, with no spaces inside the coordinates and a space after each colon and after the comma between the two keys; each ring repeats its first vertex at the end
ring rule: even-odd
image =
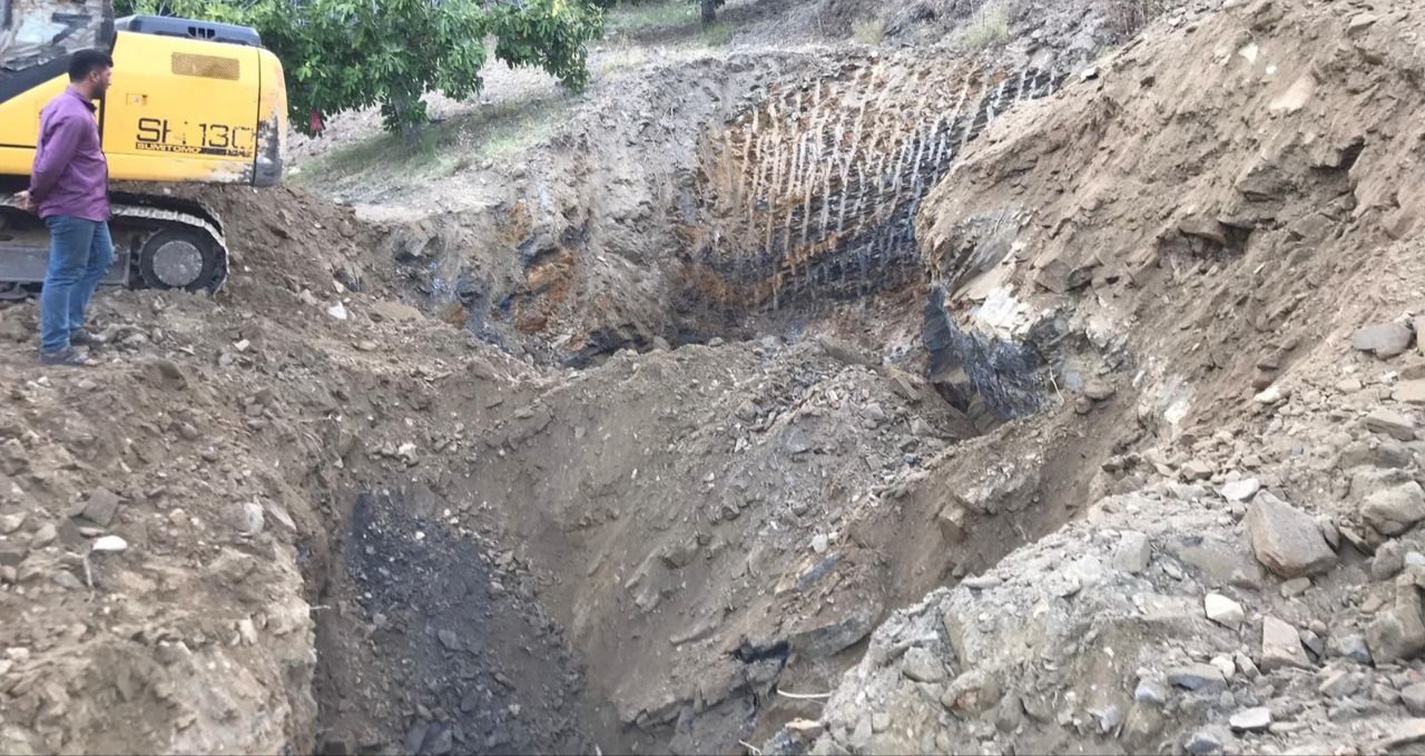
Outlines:
{"type": "Polygon", "coordinates": [[[292,126],[308,114],[380,106],[413,138],[428,91],[480,91],[484,40],[510,66],[544,68],[573,91],[589,83],[587,43],[603,10],[584,0],[117,0],[115,13],[165,13],[255,27],[282,60],[292,126]],[[127,9],[124,6],[128,6],[127,9]]]}

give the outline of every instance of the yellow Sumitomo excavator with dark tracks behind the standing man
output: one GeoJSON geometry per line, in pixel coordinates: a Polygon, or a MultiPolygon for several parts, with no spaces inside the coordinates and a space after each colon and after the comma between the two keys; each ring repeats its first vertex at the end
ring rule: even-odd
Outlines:
{"type": "MultiPolygon", "coordinates": [[[[158,16],[114,19],[113,0],[0,0],[0,295],[44,281],[48,234],[16,207],[40,110],[68,86],[68,58],[98,47],[114,80],[97,103],[110,181],[247,184],[282,178],[282,64],[248,27],[158,16]]],[[[221,220],[171,190],[113,193],[115,264],[105,282],[217,291],[221,220]]]]}

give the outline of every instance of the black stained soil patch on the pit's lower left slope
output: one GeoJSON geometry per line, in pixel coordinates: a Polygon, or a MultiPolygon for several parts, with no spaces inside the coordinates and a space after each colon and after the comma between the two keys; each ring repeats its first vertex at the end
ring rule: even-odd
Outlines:
{"type": "Polygon", "coordinates": [[[597,753],[616,720],[513,555],[361,496],[318,613],[322,753],[597,753]]]}

